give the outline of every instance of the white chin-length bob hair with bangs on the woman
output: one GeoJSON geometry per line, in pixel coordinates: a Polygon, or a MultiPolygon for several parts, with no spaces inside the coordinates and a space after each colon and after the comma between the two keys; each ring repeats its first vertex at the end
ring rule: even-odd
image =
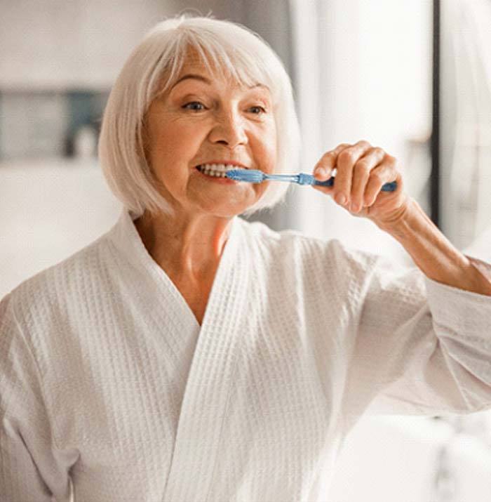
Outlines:
{"type": "MultiPolygon", "coordinates": [[[[189,14],[168,18],[147,33],[123,66],[109,95],[99,138],[99,159],[109,188],[137,216],[145,210],[173,214],[145,159],[144,117],[156,95],[179,77],[188,48],[196,50],[212,74],[224,72],[245,86],[269,86],[277,133],[275,172],[295,171],[300,163],[300,126],[290,78],[267,42],[226,20],[189,14]]],[[[290,183],[269,183],[243,214],[282,202],[289,187],[290,183]]]]}

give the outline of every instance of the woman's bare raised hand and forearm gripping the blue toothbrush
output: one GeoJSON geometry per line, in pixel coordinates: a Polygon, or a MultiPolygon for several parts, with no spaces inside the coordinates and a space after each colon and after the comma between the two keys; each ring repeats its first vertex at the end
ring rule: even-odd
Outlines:
{"type": "Polygon", "coordinates": [[[326,180],[334,169],[334,186],[313,187],[329,194],[354,216],[370,218],[397,239],[430,279],[491,296],[490,280],[452,246],[419,204],[405,193],[395,157],[366,141],[342,143],[321,157],[314,176],[326,180]],[[396,191],[381,192],[382,185],[391,181],[396,181],[396,191]]]}

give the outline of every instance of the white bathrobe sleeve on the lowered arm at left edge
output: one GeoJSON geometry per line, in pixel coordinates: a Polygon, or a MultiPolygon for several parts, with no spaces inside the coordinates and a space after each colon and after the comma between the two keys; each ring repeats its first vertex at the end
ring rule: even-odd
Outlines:
{"type": "Polygon", "coordinates": [[[0,500],[69,501],[40,371],[9,296],[0,302],[0,500]]]}

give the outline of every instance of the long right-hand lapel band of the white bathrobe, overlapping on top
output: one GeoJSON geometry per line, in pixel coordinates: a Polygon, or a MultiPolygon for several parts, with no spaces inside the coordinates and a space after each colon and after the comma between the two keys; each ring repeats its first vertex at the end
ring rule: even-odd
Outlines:
{"type": "Polygon", "coordinates": [[[206,501],[210,491],[236,358],[247,333],[249,271],[247,253],[240,246],[240,224],[235,218],[210,291],[182,400],[164,502],[206,501]]]}

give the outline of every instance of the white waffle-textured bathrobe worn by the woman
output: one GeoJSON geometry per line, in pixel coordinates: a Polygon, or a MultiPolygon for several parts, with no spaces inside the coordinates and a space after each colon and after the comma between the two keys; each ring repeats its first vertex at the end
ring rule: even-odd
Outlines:
{"type": "Polygon", "coordinates": [[[491,407],[491,297],[236,217],[199,326],[133,217],[0,303],[1,501],[325,502],[365,411],[491,407]]]}

